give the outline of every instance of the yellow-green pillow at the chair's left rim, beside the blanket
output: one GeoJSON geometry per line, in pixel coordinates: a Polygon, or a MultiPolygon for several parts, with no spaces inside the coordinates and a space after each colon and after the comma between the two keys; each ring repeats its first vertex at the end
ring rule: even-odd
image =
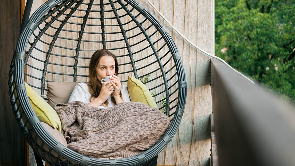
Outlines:
{"type": "Polygon", "coordinates": [[[25,83],[30,103],[38,116],[39,120],[51,125],[61,132],[61,120],[58,118],[54,109],[34,91],[27,83],[25,83]]]}

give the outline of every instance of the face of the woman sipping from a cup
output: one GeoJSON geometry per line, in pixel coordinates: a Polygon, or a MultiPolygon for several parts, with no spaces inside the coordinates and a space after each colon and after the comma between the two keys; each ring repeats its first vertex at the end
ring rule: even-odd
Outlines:
{"type": "Polygon", "coordinates": [[[112,56],[103,55],[96,67],[98,81],[109,75],[115,75],[115,59],[112,56]]]}

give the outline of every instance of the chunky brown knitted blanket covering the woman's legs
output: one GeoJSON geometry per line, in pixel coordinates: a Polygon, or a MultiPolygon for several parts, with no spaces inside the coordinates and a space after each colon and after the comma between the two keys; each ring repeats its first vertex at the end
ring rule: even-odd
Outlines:
{"type": "Polygon", "coordinates": [[[67,147],[93,158],[140,154],[162,138],[170,123],[159,109],[137,102],[98,109],[74,101],[55,110],[67,147]]]}

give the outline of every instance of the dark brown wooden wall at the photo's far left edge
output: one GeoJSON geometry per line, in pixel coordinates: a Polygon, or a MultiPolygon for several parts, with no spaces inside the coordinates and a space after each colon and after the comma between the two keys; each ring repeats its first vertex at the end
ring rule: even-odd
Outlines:
{"type": "Polygon", "coordinates": [[[0,11],[0,165],[24,165],[24,136],[8,96],[8,72],[21,29],[20,0],[2,0],[0,11]]]}

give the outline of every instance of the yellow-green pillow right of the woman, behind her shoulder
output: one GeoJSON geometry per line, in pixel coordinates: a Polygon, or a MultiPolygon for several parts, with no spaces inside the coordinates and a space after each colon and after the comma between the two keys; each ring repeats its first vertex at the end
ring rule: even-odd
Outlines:
{"type": "Polygon", "coordinates": [[[127,89],[131,101],[145,103],[150,107],[158,108],[151,93],[149,93],[149,89],[138,79],[128,76],[127,89]]]}

